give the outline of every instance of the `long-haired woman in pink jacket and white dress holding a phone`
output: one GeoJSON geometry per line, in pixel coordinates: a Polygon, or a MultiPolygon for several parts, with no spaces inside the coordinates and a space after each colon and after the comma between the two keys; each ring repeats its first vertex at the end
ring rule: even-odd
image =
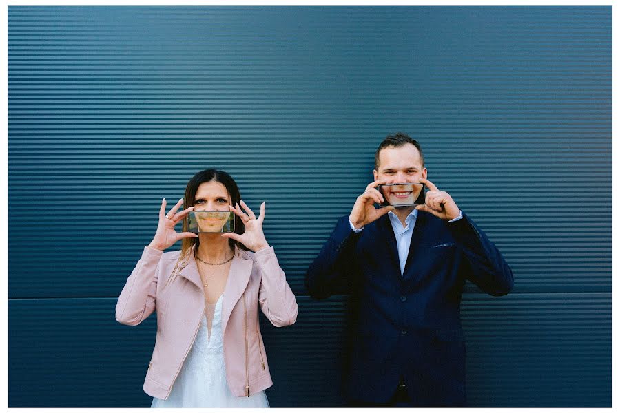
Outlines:
{"type": "Polygon", "coordinates": [[[130,326],[157,314],[144,391],[152,407],[269,407],[258,307],[281,327],[296,321],[297,303],[262,232],[265,202],[256,217],[231,176],[215,169],[189,180],[184,200],[186,209],[179,200],[168,213],[162,200],[154,238],[116,304],[116,320],[130,326]],[[196,213],[200,231],[189,232],[192,211],[231,211],[235,231],[202,232],[223,222],[196,213]],[[163,252],[178,240],[180,251],[163,252]]]}

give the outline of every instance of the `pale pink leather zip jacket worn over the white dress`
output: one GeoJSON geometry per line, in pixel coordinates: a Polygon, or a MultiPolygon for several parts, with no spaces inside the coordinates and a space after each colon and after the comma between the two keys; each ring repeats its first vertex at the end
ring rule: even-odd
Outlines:
{"type": "MultiPolygon", "coordinates": [[[[116,304],[116,320],[136,326],[157,313],[155,348],[144,381],[150,396],[167,399],[205,311],[205,295],[194,251],[144,249],[116,304]],[[176,277],[172,280],[172,274],[176,277]]],[[[289,326],[297,319],[297,302],[273,247],[258,253],[235,250],[222,299],[226,379],[235,396],[269,388],[265,346],[258,328],[258,304],[271,324],[289,326]]]]}

